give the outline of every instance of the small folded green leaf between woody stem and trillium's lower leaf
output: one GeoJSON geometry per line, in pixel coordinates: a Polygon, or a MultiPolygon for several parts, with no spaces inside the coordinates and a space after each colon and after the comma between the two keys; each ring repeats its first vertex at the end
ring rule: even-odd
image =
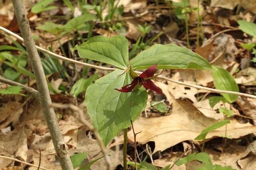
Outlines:
{"type": "Polygon", "coordinates": [[[80,93],[84,92],[86,88],[95,80],[98,79],[98,73],[93,74],[90,78],[81,78],[71,88],[70,94],[77,97],[80,93]]]}

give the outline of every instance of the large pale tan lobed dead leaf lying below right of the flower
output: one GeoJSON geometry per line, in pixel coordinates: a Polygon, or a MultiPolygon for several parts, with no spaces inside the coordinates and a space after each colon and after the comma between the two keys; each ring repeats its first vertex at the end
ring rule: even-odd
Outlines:
{"type": "MultiPolygon", "coordinates": [[[[236,119],[230,118],[227,125],[227,135],[236,139],[244,135],[256,132],[256,127],[250,123],[239,123],[236,119]]],[[[218,121],[204,116],[190,102],[174,100],[172,103],[172,113],[168,116],[144,118],[139,117],[134,121],[133,126],[136,131],[142,131],[136,136],[136,141],[146,144],[149,141],[155,142],[153,153],[166,150],[182,141],[194,140],[200,132],[218,121]]],[[[206,139],[220,137],[225,134],[225,127],[220,127],[208,133],[206,139]]],[[[111,146],[121,144],[123,137],[120,136],[119,143],[115,142],[111,146]]],[[[128,139],[134,141],[132,131],[128,132],[128,139]]]]}

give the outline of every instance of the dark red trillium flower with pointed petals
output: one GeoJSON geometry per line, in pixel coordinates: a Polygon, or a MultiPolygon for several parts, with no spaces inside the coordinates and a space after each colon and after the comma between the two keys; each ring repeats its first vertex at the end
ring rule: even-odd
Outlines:
{"type": "Polygon", "coordinates": [[[138,74],[136,74],[136,72],[134,72],[130,68],[130,75],[134,79],[132,81],[132,83],[127,84],[126,86],[122,87],[121,89],[115,89],[115,90],[118,90],[119,92],[131,92],[132,90],[136,90],[136,89],[140,88],[141,86],[144,86],[144,88],[146,88],[146,89],[153,90],[158,94],[163,94],[162,90],[158,86],[156,86],[156,84],[154,84],[154,82],[152,82],[150,80],[150,79],[156,78],[156,76],[161,74],[161,72],[160,72],[159,74],[154,75],[156,73],[156,67],[157,67],[157,64],[151,66],[150,68],[148,68],[147,70],[142,72],[142,74],[140,74],[139,76],[138,76],[138,74]]]}

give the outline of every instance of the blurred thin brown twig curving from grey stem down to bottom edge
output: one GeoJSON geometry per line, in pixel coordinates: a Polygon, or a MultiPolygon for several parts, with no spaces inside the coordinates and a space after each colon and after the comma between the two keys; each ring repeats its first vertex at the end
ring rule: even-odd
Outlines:
{"type": "Polygon", "coordinates": [[[55,108],[60,108],[60,109],[72,109],[73,111],[76,111],[79,113],[80,116],[80,121],[82,121],[82,123],[84,123],[84,125],[86,125],[91,131],[93,131],[96,139],[98,140],[98,143],[100,145],[100,149],[104,155],[104,158],[106,160],[107,166],[108,166],[108,170],[113,170],[113,167],[111,165],[111,161],[108,158],[108,151],[106,150],[106,147],[104,145],[104,143],[102,142],[100,135],[98,133],[98,131],[96,131],[96,129],[84,118],[84,113],[82,111],[82,109],[80,109],[79,107],[73,105],[73,104],[58,104],[58,103],[52,103],[50,105],[50,107],[55,107],[55,108]]]}

